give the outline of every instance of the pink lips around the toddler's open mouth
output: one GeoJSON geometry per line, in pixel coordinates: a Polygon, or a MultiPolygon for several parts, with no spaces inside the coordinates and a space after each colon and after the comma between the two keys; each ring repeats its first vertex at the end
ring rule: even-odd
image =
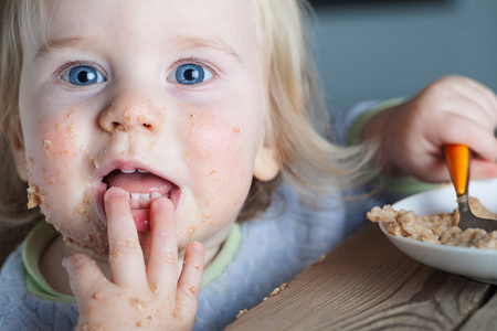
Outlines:
{"type": "Polygon", "coordinates": [[[95,185],[94,185],[94,199],[98,205],[98,212],[101,213],[102,220],[104,220],[105,225],[107,225],[107,216],[105,213],[105,204],[104,204],[104,194],[108,190],[107,183],[104,182],[104,179],[115,170],[130,170],[130,169],[139,169],[145,170],[154,175],[157,175],[161,179],[169,181],[172,184],[170,190],[170,201],[172,202],[175,213],[178,209],[179,202],[181,200],[181,189],[180,186],[170,178],[161,174],[160,172],[151,169],[149,166],[144,164],[139,161],[133,160],[113,160],[103,164],[98,172],[95,175],[95,185]]]}

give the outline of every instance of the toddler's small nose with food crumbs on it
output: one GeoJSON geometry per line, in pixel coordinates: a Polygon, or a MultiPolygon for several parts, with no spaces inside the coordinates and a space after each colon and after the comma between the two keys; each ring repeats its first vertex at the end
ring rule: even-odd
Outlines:
{"type": "Polygon", "coordinates": [[[162,116],[154,109],[150,100],[118,97],[102,113],[101,127],[107,132],[157,131],[162,125],[162,116]]]}

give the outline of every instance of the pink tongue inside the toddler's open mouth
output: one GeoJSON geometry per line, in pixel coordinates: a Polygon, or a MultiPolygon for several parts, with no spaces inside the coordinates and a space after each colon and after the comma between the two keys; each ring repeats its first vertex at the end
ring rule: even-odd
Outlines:
{"type": "Polygon", "coordinates": [[[129,193],[152,193],[157,192],[160,195],[166,195],[171,190],[172,183],[157,177],[152,173],[123,173],[120,171],[113,171],[107,177],[107,185],[121,188],[129,193]]]}

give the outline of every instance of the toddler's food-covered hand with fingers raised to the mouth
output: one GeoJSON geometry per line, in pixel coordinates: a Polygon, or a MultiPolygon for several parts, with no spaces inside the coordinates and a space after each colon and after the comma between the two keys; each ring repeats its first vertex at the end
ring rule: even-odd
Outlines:
{"type": "Polygon", "coordinates": [[[112,280],[87,255],[63,261],[77,300],[80,330],[187,330],[192,328],[203,270],[203,247],[190,243],[178,280],[173,207],[159,197],[150,206],[150,258],[145,268],[128,197],[105,194],[112,280]]]}

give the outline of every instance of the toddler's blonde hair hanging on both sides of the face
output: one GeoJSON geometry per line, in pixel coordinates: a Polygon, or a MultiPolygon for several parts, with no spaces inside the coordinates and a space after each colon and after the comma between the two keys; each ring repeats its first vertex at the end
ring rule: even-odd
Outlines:
{"type": "MultiPolygon", "coordinates": [[[[0,223],[22,224],[41,214],[38,209],[27,209],[27,183],[15,174],[9,140],[22,143],[18,99],[22,67],[21,33],[29,23],[28,18],[43,13],[43,1],[3,0],[2,4],[0,223]]],[[[253,180],[241,220],[263,212],[283,180],[308,196],[329,193],[330,184],[340,191],[361,178],[359,170],[368,159],[360,147],[342,148],[330,143],[325,138],[329,135],[328,128],[318,127],[328,121],[305,35],[307,9],[304,0],[258,0],[258,43],[268,73],[266,90],[271,109],[266,143],[276,148],[282,171],[269,182],[253,180]]]]}

